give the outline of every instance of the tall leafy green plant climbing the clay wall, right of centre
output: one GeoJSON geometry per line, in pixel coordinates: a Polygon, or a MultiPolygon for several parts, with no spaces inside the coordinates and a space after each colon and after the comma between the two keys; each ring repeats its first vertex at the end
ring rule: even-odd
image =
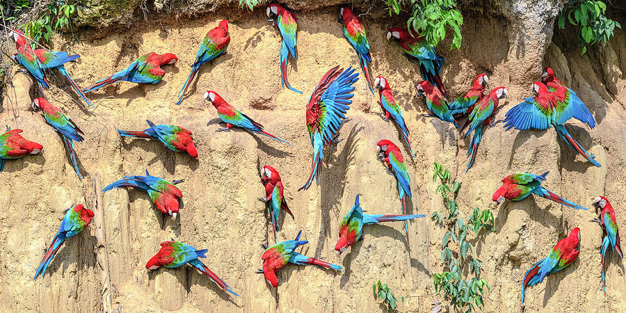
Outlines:
{"type": "Polygon", "coordinates": [[[436,223],[444,227],[447,232],[442,238],[441,260],[447,271],[433,273],[435,292],[443,294],[444,300],[448,300],[454,310],[474,311],[474,305],[483,309],[484,288],[489,289],[489,284],[479,278],[483,269],[483,262],[472,256],[474,248],[467,241],[470,231],[479,235],[481,230],[493,231],[494,218],[488,209],[474,208],[470,216],[465,220],[458,218],[459,208],[456,196],[460,191],[459,182],[450,182],[449,170],[444,170],[441,164],[435,162],[433,183],[439,179],[436,193],[441,195],[444,207],[448,209],[447,216],[440,211],[431,214],[436,223]],[[452,242],[456,244],[452,244],[452,242]],[[462,269],[469,267],[471,279],[463,276],[462,269]]]}

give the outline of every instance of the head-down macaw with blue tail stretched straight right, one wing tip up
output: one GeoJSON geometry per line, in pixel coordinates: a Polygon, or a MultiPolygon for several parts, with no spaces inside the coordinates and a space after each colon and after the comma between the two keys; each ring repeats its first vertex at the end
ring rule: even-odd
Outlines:
{"type": "Polygon", "coordinates": [[[383,214],[364,214],[360,207],[359,195],[354,200],[354,205],[348,214],[344,216],[341,225],[339,225],[339,241],[335,245],[335,250],[344,252],[348,247],[362,239],[363,225],[377,224],[381,222],[397,222],[400,220],[412,220],[413,218],[426,217],[424,214],[414,215],[383,215],[383,214]]]}

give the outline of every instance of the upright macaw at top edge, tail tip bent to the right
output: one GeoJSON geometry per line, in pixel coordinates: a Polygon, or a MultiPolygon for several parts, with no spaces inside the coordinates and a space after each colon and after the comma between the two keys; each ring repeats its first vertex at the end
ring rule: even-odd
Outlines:
{"type": "Polygon", "coordinates": [[[298,23],[293,13],[289,12],[282,6],[271,3],[267,6],[267,16],[274,26],[278,26],[278,31],[282,36],[282,43],[280,44],[280,86],[287,86],[290,90],[296,93],[302,93],[302,91],[289,85],[287,81],[287,58],[289,54],[296,60],[296,31],[298,30],[298,23]]]}

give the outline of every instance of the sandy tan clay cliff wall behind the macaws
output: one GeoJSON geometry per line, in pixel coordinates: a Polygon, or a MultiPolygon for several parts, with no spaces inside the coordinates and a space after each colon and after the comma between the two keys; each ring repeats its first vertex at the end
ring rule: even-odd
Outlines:
{"type": "MultiPolygon", "coordinates": [[[[364,240],[341,256],[333,250],[339,221],[358,193],[363,209],[370,214],[399,214],[401,210],[396,181],[376,159],[376,142],[386,138],[400,143],[401,139],[394,125],[375,114],[380,110],[377,97],[369,93],[362,79],[356,83],[353,104],[339,130],[342,141],[335,150],[326,150],[320,183],[308,191],[296,191],[311,166],[312,149],[305,128],[308,97],[331,67],[358,67],[356,54],[337,23],[337,3],[287,3],[298,17],[298,60],[290,62],[289,80],[305,92],[299,95],[280,87],[280,35],[266,22],[264,7],[250,13],[232,3],[196,1],[198,6],[193,8],[198,13],[193,17],[177,18],[170,11],[154,9],[144,19],[141,10],[128,9],[141,1],[122,2],[119,16],[111,13],[94,22],[82,15],[83,22],[87,21],[83,25],[91,26],[75,32],[75,43],[54,38],[54,50],[81,55],[78,62],[66,65],[79,86],[122,70],[148,51],[174,53],[179,62],[166,65],[166,76],[154,86],[122,82],[90,93],[95,109],[77,104],[63,77],[51,77],[53,86],[62,87],[51,88],[51,102],[86,134],[85,141],[75,145],[82,182],[67,161],[61,138],[40,113],[30,111],[33,82],[13,67],[14,88],[8,88],[3,99],[0,124],[24,129],[24,137],[38,141],[44,150],[8,161],[0,174],[4,182],[0,188],[0,307],[10,312],[102,310],[93,225],[65,243],[43,278],[32,279],[35,268],[58,230],[63,209],[72,203],[93,207],[96,173],[105,186],[147,169],[170,181],[184,178],[185,182],[177,185],[183,204],[179,219],[172,220],[153,209],[141,191],[122,188],[104,193],[113,309],[376,312],[386,310],[371,291],[371,284],[380,279],[394,295],[406,297],[401,311],[430,312],[430,303],[439,298],[431,273],[442,268],[444,230],[429,218],[409,223],[408,239],[403,223],[388,223],[365,228],[364,240]],[[200,40],[220,19],[230,21],[232,40],[227,54],[202,67],[190,95],[181,106],[175,106],[200,40]],[[202,99],[205,90],[220,93],[267,131],[294,146],[239,130],[216,133],[218,116],[202,99]],[[198,159],[172,152],[156,141],[120,138],[115,130],[144,129],[146,119],[193,131],[198,159]],[[303,230],[303,239],[309,241],[303,254],[342,265],[343,273],[289,265],[278,272],[278,289],[255,273],[262,264],[259,245],[272,236],[268,213],[257,200],[264,195],[257,164],[271,165],[280,172],[295,216],[292,220],[281,214],[279,241],[294,239],[303,230]],[[202,262],[241,297],[231,298],[191,266],[148,272],[145,263],[159,250],[159,243],[170,238],[208,249],[202,262]]],[[[419,69],[401,56],[395,42],[385,38],[387,29],[401,25],[402,20],[390,19],[380,9],[381,2],[358,2],[358,12],[373,7],[360,17],[371,45],[372,76],[382,75],[390,82],[416,154],[407,165],[413,193],[409,212],[430,215],[443,209],[434,192],[434,161],[463,182],[458,195],[463,215],[475,206],[488,207],[502,177],[549,170],[546,188],[585,207],[591,207],[597,195],[605,195],[617,211],[618,226],[626,230],[626,34],[616,30],[608,45],[580,56],[573,33],[552,33],[561,5],[560,1],[535,5],[528,0],[463,4],[463,45],[458,51],[447,49],[449,41],[438,47],[446,58],[441,76],[449,95],[456,97],[477,74],[488,73],[490,88],[506,86],[509,90],[508,101],[501,100],[496,113],[501,119],[506,110],[530,94],[531,82],[540,78],[543,67],[552,67],[593,114],[595,129],[573,119],[566,127],[602,167],[590,166],[552,129],[504,131],[497,125],[485,130],[476,162],[465,173],[469,138],[459,136],[449,123],[421,116],[427,110],[416,97],[419,69]]],[[[618,12],[612,17],[626,24],[623,11],[618,12]]],[[[410,159],[404,145],[400,146],[410,159]]],[[[602,232],[589,222],[595,218],[593,208],[575,211],[531,196],[521,202],[504,202],[493,212],[495,232],[473,241],[485,265],[482,277],[490,284],[485,312],[522,310],[524,272],[573,227],[581,229],[579,258],[543,284],[529,288],[524,310],[625,310],[622,259],[607,258],[607,294],[602,292],[602,232]]]]}

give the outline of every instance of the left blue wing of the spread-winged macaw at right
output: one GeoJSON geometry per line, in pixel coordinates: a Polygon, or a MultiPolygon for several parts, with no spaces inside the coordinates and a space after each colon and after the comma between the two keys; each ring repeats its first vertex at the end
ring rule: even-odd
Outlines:
{"type": "Polygon", "coordinates": [[[515,129],[549,129],[552,108],[542,105],[536,97],[527,97],[524,102],[513,106],[506,112],[504,127],[515,129]]]}

